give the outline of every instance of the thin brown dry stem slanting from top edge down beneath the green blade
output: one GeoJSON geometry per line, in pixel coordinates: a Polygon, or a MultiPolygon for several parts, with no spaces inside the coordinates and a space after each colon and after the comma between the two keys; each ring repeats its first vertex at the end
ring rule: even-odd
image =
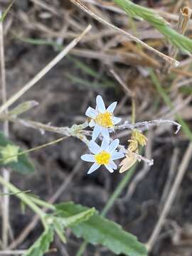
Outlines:
{"type": "Polygon", "coordinates": [[[70,0],[70,1],[73,4],[75,4],[76,6],[80,7],[80,9],[82,9],[82,11],[85,11],[85,13],[89,14],[90,16],[95,18],[100,23],[103,23],[103,24],[109,26],[110,28],[114,29],[118,33],[122,34],[123,36],[126,36],[130,40],[132,40],[136,43],[139,43],[139,45],[144,46],[144,48],[153,51],[156,55],[159,55],[159,57],[163,58],[164,60],[166,60],[166,62],[170,63],[171,65],[177,66],[179,64],[178,61],[175,60],[174,58],[171,58],[168,55],[165,55],[164,53],[159,52],[159,50],[156,50],[155,48],[148,46],[146,43],[139,40],[139,38],[132,36],[131,34],[127,33],[126,31],[122,30],[121,28],[118,28],[117,26],[114,26],[112,23],[109,23],[109,22],[105,21],[104,19],[100,18],[100,16],[97,16],[92,11],[90,11],[90,9],[88,9],[87,6],[82,4],[79,0],[70,0]]]}

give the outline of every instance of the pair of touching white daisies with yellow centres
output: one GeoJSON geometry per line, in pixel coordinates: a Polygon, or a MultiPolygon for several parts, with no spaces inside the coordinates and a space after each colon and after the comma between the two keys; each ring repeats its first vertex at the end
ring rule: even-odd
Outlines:
{"type": "Polygon", "coordinates": [[[114,139],[110,143],[110,131],[114,129],[115,124],[121,121],[121,118],[114,117],[114,108],[117,102],[113,102],[107,110],[105,103],[100,95],[96,98],[96,108],[88,107],[85,114],[90,117],[89,126],[93,127],[92,140],[89,143],[89,149],[92,154],[84,154],[81,159],[89,161],[94,164],[90,167],[87,174],[91,174],[97,170],[101,165],[104,165],[110,173],[117,169],[114,160],[124,157],[124,153],[117,151],[119,146],[119,139],[114,139]],[[99,146],[95,139],[102,135],[102,144],[99,146]]]}

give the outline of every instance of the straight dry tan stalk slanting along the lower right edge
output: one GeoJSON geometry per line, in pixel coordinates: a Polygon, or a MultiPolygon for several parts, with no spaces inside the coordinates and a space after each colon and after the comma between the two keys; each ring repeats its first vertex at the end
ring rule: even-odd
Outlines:
{"type": "Polygon", "coordinates": [[[166,203],[165,203],[164,208],[161,212],[159,220],[156,223],[156,226],[154,228],[153,233],[151,234],[151,237],[149,238],[149,241],[146,243],[146,248],[149,252],[154,247],[156,239],[158,238],[159,233],[161,232],[161,228],[164,225],[164,222],[166,220],[166,216],[168,215],[169,210],[171,209],[171,206],[172,206],[172,204],[174,202],[174,199],[176,197],[176,193],[178,191],[178,188],[181,185],[181,181],[183,179],[184,174],[186,173],[186,169],[188,167],[189,161],[191,160],[191,156],[192,156],[192,142],[190,142],[190,144],[188,144],[188,148],[186,149],[186,152],[183,156],[183,159],[181,161],[181,165],[178,167],[178,173],[176,175],[173,186],[171,187],[171,191],[169,193],[169,196],[166,199],[166,203]]]}

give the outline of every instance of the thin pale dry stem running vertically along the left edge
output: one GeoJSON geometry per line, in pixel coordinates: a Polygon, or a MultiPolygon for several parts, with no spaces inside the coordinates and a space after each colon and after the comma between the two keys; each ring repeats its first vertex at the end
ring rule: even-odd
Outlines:
{"type": "MultiPolygon", "coordinates": [[[[1,16],[1,11],[0,11],[1,16]]],[[[1,90],[2,90],[2,103],[6,102],[6,71],[5,71],[5,58],[4,58],[4,28],[3,23],[0,22],[0,58],[1,58],[1,90]]],[[[8,109],[5,109],[5,113],[8,109]]],[[[9,122],[4,121],[4,134],[9,136],[9,122]]],[[[9,182],[9,170],[2,168],[4,179],[9,182]]],[[[3,193],[9,193],[9,189],[4,186],[3,193]]],[[[5,196],[2,200],[2,242],[3,247],[6,248],[8,244],[9,232],[9,196],[5,196]]]]}

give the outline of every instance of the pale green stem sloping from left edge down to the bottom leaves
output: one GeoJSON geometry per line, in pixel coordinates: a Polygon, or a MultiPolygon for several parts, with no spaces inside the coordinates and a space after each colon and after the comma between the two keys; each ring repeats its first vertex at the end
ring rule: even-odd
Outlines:
{"type": "Polygon", "coordinates": [[[6,188],[9,188],[9,191],[15,193],[17,198],[19,198],[21,201],[23,201],[23,203],[26,203],[26,205],[28,207],[30,207],[31,210],[33,210],[35,213],[37,213],[40,216],[43,224],[45,225],[44,218],[45,218],[46,213],[43,213],[43,210],[41,210],[41,208],[36,206],[36,204],[33,203],[33,201],[31,201],[30,198],[25,193],[22,193],[22,191],[20,191],[18,188],[16,188],[16,186],[11,184],[10,182],[5,181],[2,176],[0,176],[0,183],[3,186],[6,186],[6,188]]]}

